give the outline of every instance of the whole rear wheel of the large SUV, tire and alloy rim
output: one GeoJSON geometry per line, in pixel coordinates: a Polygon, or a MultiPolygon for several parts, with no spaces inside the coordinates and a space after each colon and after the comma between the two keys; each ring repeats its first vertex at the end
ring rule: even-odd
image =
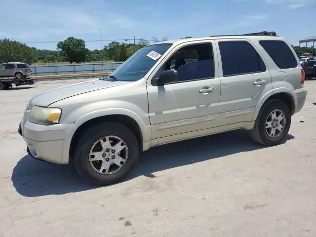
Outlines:
{"type": "Polygon", "coordinates": [[[265,146],[275,146],[286,136],[291,125],[291,112],[281,100],[268,100],[260,109],[255,125],[250,131],[252,138],[265,146]]]}

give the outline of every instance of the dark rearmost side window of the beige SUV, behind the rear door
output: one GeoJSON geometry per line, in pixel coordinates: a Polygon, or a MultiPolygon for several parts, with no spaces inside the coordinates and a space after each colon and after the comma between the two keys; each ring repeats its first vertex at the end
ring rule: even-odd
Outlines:
{"type": "Polygon", "coordinates": [[[281,69],[297,67],[296,57],[284,41],[260,40],[259,43],[267,51],[277,67],[281,69]]]}

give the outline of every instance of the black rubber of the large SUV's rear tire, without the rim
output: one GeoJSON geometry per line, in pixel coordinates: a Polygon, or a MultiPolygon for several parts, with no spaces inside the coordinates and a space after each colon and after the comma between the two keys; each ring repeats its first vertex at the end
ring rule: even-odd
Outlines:
{"type": "Polygon", "coordinates": [[[255,125],[250,131],[252,138],[258,143],[265,146],[274,146],[279,144],[288,133],[291,125],[291,112],[288,106],[281,100],[271,99],[265,102],[260,109],[255,125]],[[266,121],[270,113],[274,110],[280,110],[285,115],[285,127],[279,136],[272,138],[266,131],[266,121]]]}

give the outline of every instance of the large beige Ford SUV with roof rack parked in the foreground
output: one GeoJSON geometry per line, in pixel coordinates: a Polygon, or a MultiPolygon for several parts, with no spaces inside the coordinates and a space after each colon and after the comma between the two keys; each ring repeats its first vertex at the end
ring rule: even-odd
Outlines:
{"type": "Polygon", "coordinates": [[[111,184],[127,175],[140,151],[166,143],[246,129],[264,146],[279,144],[305,103],[304,80],[281,37],[159,42],[108,79],[34,97],[19,133],[32,157],[73,161],[82,177],[111,184]]]}

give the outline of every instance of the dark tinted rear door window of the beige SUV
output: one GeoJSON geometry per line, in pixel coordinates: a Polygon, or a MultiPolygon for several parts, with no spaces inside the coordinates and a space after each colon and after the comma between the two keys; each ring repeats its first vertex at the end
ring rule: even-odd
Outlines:
{"type": "Polygon", "coordinates": [[[224,77],[266,71],[261,57],[246,41],[219,42],[219,49],[224,77]]]}

